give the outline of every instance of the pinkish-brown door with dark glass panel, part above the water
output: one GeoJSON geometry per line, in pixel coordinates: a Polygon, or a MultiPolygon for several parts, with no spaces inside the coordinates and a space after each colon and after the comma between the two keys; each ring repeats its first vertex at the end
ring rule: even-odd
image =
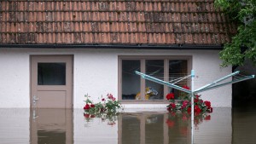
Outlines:
{"type": "Polygon", "coordinates": [[[73,56],[31,56],[31,106],[73,107],[73,56]]]}

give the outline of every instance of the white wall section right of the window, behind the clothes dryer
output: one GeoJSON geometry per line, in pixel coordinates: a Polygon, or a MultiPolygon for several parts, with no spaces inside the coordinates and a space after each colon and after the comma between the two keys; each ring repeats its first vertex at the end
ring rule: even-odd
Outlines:
{"type": "MultiPolygon", "coordinates": [[[[198,51],[193,56],[193,69],[195,70],[195,89],[209,84],[232,72],[231,67],[220,68],[221,60],[218,51],[198,51]]],[[[231,107],[232,86],[227,85],[200,93],[204,101],[211,101],[213,107],[231,107]]]]}

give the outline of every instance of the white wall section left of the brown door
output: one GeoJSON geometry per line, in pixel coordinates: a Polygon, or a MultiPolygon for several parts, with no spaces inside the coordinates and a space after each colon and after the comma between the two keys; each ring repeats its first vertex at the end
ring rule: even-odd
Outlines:
{"type": "Polygon", "coordinates": [[[29,55],[0,49],[0,107],[29,107],[29,55]]]}

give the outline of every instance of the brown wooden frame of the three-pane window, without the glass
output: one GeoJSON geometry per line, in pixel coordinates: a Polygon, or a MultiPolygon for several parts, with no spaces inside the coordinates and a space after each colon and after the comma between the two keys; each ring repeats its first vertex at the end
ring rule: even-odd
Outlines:
{"type": "MultiPolygon", "coordinates": [[[[142,96],[142,100],[122,100],[122,60],[140,60],[141,62],[141,72],[146,71],[146,60],[164,60],[164,66],[165,66],[165,75],[168,75],[169,73],[169,60],[187,60],[187,73],[189,73],[192,69],[192,56],[191,55],[119,55],[118,57],[118,99],[121,101],[121,103],[125,104],[131,104],[131,103],[137,103],[137,104],[167,104],[169,103],[166,100],[166,96],[168,93],[168,87],[164,85],[164,99],[163,100],[144,100],[144,97],[142,96]]],[[[141,89],[141,95],[145,95],[145,89],[146,87],[146,80],[143,78],[141,79],[140,89],[141,89]]],[[[165,80],[167,81],[168,78],[165,80]]],[[[190,86],[190,84],[187,84],[190,86]]]]}

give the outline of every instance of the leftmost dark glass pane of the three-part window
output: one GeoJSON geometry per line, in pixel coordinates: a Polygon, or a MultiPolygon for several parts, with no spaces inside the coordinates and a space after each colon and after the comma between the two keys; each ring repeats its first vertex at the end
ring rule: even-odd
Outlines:
{"type": "Polygon", "coordinates": [[[122,100],[135,100],[141,91],[140,60],[122,60],[122,100]]]}

